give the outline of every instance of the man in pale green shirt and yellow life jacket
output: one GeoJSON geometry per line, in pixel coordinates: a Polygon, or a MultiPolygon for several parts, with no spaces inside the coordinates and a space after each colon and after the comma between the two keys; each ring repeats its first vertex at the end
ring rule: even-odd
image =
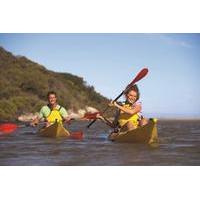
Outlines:
{"type": "Polygon", "coordinates": [[[37,125],[42,119],[46,121],[46,126],[53,124],[55,121],[62,123],[62,121],[70,120],[66,109],[57,103],[56,92],[48,92],[47,97],[48,104],[41,108],[39,115],[31,122],[32,126],[37,125]]]}

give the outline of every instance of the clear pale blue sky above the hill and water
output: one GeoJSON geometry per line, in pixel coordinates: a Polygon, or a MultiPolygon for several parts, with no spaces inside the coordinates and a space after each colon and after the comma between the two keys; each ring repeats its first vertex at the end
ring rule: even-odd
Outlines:
{"type": "Polygon", "coordinates": [[[200,118],[200,34],[4,33],[0,46],[47,69],[81,76],[110,99],[147,67],[138,82],[144,114],[200,118]]]}

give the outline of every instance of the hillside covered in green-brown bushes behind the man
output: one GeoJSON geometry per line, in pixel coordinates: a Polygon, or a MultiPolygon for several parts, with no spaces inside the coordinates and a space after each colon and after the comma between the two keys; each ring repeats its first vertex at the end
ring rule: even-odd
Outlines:
{"type": "Polygon", "coordinates": [[[59,104],[74,111],[92,106],[103,110],[108,99],[88,86],[83,78],[47,70],[23,56],[0,47],[0,120],[15,120],[20,114],[37,112],[46,104],[50,90],[59,104]]]}

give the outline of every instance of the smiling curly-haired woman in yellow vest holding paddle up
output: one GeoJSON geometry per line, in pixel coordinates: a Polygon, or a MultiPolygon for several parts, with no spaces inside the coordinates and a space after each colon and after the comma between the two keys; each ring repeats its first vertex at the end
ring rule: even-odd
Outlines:
{"type": "Polygon", "coordinates": [[[130,87],[125,93],[125,102],[122,104],[115,101],[111,101],[109,106],[116,107],[117,113],[113,122],[108,121],[102,116],[98,118],[102,119],[109,126],[115,128],[115,132],[130,131],[136,129],[138,126],[144,126],[148,123],[148,120],[142,115],[142,103],[139,101],[140,92],[138,86],[135,84],[130,87]]]}

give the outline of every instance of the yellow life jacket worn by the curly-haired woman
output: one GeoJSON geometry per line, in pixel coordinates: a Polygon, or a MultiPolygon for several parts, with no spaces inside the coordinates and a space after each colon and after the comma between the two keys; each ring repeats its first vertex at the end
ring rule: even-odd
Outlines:
{"type": "MultiPolygon", "coordinates": [[[[130,104],[124,104],[123,107],[131,109],[132,106],[130,104]]],[[[119,125],[122,127],[129,121],[131,121],[133,125],[137,128],[139,125],[139,115],[138,114],[130,115],[125,112],[120,112],[118,118],[119,125]]]]}

